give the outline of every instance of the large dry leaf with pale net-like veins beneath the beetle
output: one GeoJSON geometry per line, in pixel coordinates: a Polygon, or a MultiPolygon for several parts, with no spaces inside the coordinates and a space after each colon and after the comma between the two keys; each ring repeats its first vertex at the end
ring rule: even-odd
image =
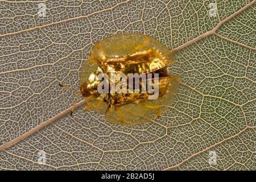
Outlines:
{"type": "Polygon", "coordinates": [[[255,2],[47,1],[45,17],[40,2],[1,2],[0,169],[255,170],[255,2]],[[175,100],[138,126],[86,113],[82,98],[70,117],[76,95],[58,84],[78,90],[93,45],[123,32],[174,49],[175,100]]]}

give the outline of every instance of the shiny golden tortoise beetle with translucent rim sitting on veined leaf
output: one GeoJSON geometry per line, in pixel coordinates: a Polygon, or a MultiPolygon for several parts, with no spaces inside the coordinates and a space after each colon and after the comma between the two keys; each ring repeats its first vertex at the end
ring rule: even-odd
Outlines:
{"type": "MultiPolygon", "coordinates": [[[[168,72],[168,65],[174,63],[172,51],[147,35],[119,34],[101,40],[92,48],[80,74],[78,93],[82,94],[86,101],[85,110],[90,108],[96,113],[105,114],[106,120],[110,123],[125,126],[137,125],[158,117],[174,99],[179,87],[179,75],[170,75],[168,72]],[[97,86],[101,80],[97,76],[100,73],[107,76],[111,73],[114,76],[119,73],[144,74],[147,81],[150,81],[148,73],[158,73],[158,98],[148,100],[148,92],[98,93],[97,86]]],[[[139,85],[142,86],[142,79],[139,81],[139,85]]],[[[109,80],[108,82],[109,85],[113,84],[109,80]]],[[[114,85],[117,85],[117,80],[114,80],[114,85]]],[[[152,85],[154,87],[155,84],[152,85]]],[[[125,89],[128,87],[127,81],[125,89]]]]}

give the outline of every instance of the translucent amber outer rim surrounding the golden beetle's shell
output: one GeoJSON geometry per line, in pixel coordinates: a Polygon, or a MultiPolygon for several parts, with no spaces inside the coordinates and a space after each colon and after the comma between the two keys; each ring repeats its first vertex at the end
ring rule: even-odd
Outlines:
{"type": "MultiPolygon", "coordinates": [[[[121,34],[110,36],[109,38],[101,40],[92,48],[91,55],[82,68],[80,75],[80,86],[82,86],[85,82],[88,82],[90,73],[97,70],[98,72],[108,72],[107,67],[110,65],[110,63],[113,67],[113,61],[115,58],[120,58],[120,60],[123,61],[122,66],[126,68],[129,67],[129,61],[125,59],[127,55],[136,56],[139,54],[139,52],[143,53],[146,51],[147,53],[147,51],[150,52],[150,50],[159,52],[160,57],[163,59],[161,64],[158,64],[158,67],[159,65],[160,68],[167,67],[168,65],[175,63],[172,52],[158,40],[150,38],[147,35],[121,34]]],[[[158,58],[155,60],[160,59],[158,58]]],[[[152,65],[152,63],[150,65],[152,65]]],[[[138,62],[138,64],[140,63],[138,62]]],[[[158,67],[156,66],[154,68],[159,69],[158,67]]],[[[144,73],[151,71],[152,70],[142,69],[142,72],[144,73]]],[[[100,97],[90,96],[84,97],[84,99],[91,109],[97,113],[105,114],[105,118],[111,123],[116,125],[137,125],[158,117],[159,110],[163,111],[166,109],[177,92],[177,88],[179,86],[179,76],[161,78],[159,80],[159,84],[159,88],[162,86],[164,93],[166,93],[164,96],[156,100],[147,100],[144,102],[134,101],[133,103],[129,104],[125,103],[121,106],[115,107],[115,109],[112,109],[114,108],[113,106],[110,107],[110,101],[108,103],[102,102],[102,99],[104,98],[106,100],[107,98],[110,100],[111,98],[119,97],[122,100],[121,95],[112,94],[112,97],[109,97],[110,95],[102,94],[100,97]]],[[[133,96],[131,95],[129,97],[133,96]]]]}

